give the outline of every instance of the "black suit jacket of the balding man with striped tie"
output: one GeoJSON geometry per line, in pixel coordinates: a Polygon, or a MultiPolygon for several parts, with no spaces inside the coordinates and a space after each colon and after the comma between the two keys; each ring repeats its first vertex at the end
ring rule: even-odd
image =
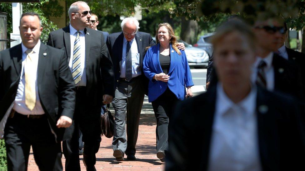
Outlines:
{"type": "MultiPolygon", "coordinates": [[[[114,95],[113,64],[101,31],[85,28],[86,49],[86,96],[87,104],[100,106],[103,95],[114,95]]],[[[66,52],[67,60],[71,57],[70,27],[49,33],[48,45],[66,52]]]]}

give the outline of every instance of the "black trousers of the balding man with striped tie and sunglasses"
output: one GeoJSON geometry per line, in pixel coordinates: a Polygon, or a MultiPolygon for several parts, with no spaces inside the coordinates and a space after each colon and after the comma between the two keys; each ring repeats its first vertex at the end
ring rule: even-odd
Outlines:
{"type": "Polygon", "coordinates": [[[86,102],[86,88],[76,91],[76,105],[74,112],[75,129],[72,138],[63,141],[63,154],[66,158],[67,171],[80,171],[79,163],[79,130],[83,133],[83,162],[87,170],[94,170],[95,154],[100,147],[101,138],[101,106],[93,107],[86,102]],[[79,129],[78,129],[79,128],[79,129]]]}

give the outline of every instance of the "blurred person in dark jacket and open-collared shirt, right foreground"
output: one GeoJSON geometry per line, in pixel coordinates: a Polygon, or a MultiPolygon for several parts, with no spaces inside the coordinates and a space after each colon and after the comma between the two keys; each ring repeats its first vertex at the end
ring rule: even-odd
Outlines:
{"type": "Polygon", "coordinates": [[[296,101],[251,83],[252,29],[230,21],[212,44],[218,82],[176,106],[166,170],[304,170],[296,101]]]}

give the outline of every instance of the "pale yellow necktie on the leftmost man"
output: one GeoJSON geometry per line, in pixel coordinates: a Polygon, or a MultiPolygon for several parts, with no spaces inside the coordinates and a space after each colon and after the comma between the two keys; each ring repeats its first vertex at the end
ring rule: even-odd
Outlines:
{"type": "Polygon", "coordinates": [[[33,61],[33,57],[31,55],[34,53],[32,49],[28,49],[25,51],[27,54],[27,58],[24,63],[24,76],[25,76],[25,105],[30,111],[32,111],[35,107],[36,103],[36,90],[35,90],[35,76],[36,70],[34,67],[35,62],[33,61]]]}

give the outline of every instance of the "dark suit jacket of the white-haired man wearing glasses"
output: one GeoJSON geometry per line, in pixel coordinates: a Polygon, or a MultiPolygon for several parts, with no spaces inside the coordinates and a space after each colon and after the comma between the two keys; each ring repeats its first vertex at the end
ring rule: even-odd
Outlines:
{"type": "MultiPolygon", "coordinates": [[[[118,80],[120,78],[121,66],[120,62],[122,61],[123,54],[123,32],[112,33],[108,35],[107,46],[113,62],[114,75],[115,75],[115,87],[118,85],[118,80]]],[[[153,45],[153,38],[148,33],[138,31],[135,39],[137,41],[138,51],[140,53],[140,64],[142,66],[144,56],[146,54],[145,48],[153,45]]],[[[145,89],[148,91],[148,78],[145,77],[143,70],[141,77],[143,83],[145,83],[145,89]]]]}

